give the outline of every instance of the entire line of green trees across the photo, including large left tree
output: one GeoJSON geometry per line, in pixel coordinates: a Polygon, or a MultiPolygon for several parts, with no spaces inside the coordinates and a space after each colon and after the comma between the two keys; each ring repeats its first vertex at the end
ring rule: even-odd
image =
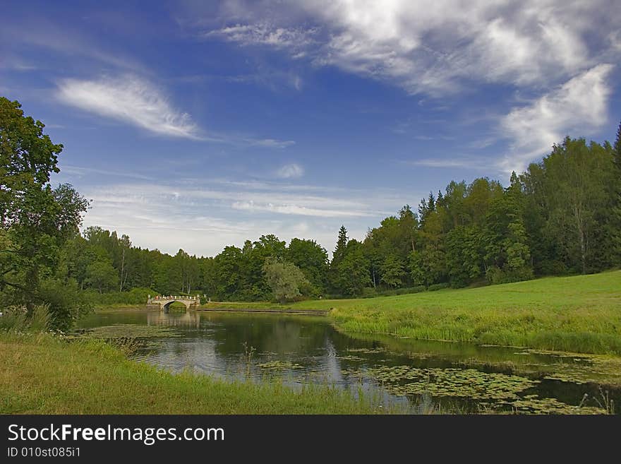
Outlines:
{"type": "Polygon", "coordinates": [[[43,129],[0,97],[0,297],[28,311],[49,305],[59,328],[92,302],[148,293],[284,302],[621,266],[621,124],[614,145],[567,137],[507,187],[488,177],[450,182],[361,241],[342,226],[332,259],[314,240],[274,234],[204,257],[143,249],[101,227],[80,233],[89,203],[71,185],[51,186],[63,146],[43,129]]]}

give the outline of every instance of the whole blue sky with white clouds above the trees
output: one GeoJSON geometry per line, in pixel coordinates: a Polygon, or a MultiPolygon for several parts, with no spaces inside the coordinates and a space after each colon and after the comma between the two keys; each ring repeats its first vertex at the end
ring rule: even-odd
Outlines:
{"type": "Polygon", "coordinates": [[[621,119],[618,1],[7,1],[0,95],[65,148],[84,224],[214,255],[332,251],[452,179],[621,119]],[[148,5],[148,6],[145,6],[148,5]]]}

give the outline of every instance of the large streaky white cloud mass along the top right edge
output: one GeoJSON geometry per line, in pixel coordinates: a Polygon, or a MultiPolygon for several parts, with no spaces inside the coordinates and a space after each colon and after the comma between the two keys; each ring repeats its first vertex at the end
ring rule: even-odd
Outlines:
{"type": "Polygon", "coordinates": [[[292,58],[392,81],[410,93],[444,95],[471,81],[545,87],[596,66],[605,50],[619,52],[610,30],[621,8],[608,0],[236,4],[229,20],[237,23],[208,35],[287,49],[292,58]]]}

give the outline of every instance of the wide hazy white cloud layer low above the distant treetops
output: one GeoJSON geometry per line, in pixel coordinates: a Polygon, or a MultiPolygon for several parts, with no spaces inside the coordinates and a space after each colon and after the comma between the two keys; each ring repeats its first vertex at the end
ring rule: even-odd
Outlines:
{"type": "MultiPolygon", "coordinates": [[[[224,246],[274,233],[280,239],[316,239],[334,249],[341,224],[363,239],[368,225],[407,203],[394,191],[368,191],[270,182],[183,179],[183,182],[109,182],[76,188],[92,198],[84,227],[100,225],[129,234],[136,246],[174,254],[213,256],[224,246]],[[309,194],[310,193],[310,194],[309,194]],[[164,231],[164,232],[162,232],[164,231]]],[[[63,179],[65,180],[65,179],[63,179]]],[[[412,198],[420,198],[414,194],[412,198]]]]}

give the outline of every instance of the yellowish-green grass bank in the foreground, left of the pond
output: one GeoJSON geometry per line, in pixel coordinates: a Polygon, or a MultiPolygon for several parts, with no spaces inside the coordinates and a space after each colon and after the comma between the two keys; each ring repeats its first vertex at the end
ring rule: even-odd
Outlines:
{"type": "Polygon", "coordinates": [[[301,392],[279,383],[171,374],[128,360],[101,341],[0,333],[2,414],[370,414],[372,398],[329,386],[301,392]]]}

